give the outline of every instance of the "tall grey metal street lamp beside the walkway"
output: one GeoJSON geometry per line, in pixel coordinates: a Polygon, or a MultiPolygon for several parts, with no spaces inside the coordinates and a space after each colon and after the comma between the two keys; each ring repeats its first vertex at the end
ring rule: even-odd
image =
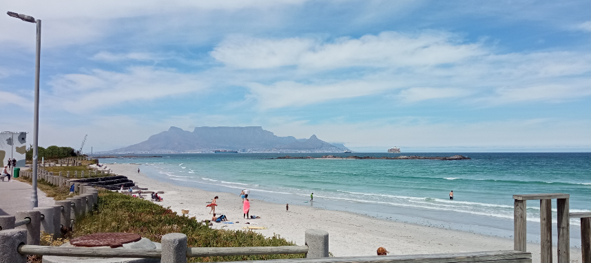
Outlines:
{"type": "Polygon", "coordinates": [[[37,145],[39,142],[39,65],[41,55],[41,20],[35,20],[32,16],[7,12],[9,16],[16,17],[22,21],[37,23],[37,50],[35,53],[35,111],[33,121],[33,191],[31,193],[31,209],[38,207],[37,200],[37,145]]]}

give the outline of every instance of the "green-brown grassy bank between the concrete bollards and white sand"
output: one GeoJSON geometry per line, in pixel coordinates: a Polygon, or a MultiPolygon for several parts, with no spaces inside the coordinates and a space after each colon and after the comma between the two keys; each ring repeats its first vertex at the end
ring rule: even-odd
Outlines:
{"type": "MultiPolygon", "coordinates": [[[[20,178],[19,180],[27,183],[32,182],[30,179],[20,178]]],[[[55,200],[64,200],[69,193],[65,187],[60,189],[45,183],[45,181],[39,181],[37,185],[39,190],[55,200]]],[[[262,234],[253,231],[210,229],[195,218],[179,216],[168,208],[125,194],[100,190],[98,197],[98,205],[94,207],[94,211],[76,220],[74,231],[68,233],[68,238],[97,232],[127,232],[137,233],[154,242],[160,242],[162,236],[167,233],[184,233],[187,235],[189,247],[276,247],[295,245],[293,242],[280,238],[280,236],[265,238],[262,234]]],[[[46,244],[51,242],[52,240],[49,240],[46,244]]],[[[60,242],[54,242],[54,244],[60,244],[60,242]]],[[[304,255],[190,258],[189,262],[271,260],[280,258],[304,258],[304,255]]]]}

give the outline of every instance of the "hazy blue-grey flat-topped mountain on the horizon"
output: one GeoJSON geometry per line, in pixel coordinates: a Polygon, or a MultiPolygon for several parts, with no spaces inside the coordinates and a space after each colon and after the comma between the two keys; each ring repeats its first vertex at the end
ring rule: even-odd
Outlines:
{"type": "Polygon", "coordinates": [[[165,153],[165,152],[214,152],[236,150],[238,152],[343,152],[349,150],[343,144],[329,144],[312,135],[309,139],[293,136],[278,137],[260,126],[251,127],[196,127],[193,132],[170,127],[146,141],[116,153],[165,153]]]}

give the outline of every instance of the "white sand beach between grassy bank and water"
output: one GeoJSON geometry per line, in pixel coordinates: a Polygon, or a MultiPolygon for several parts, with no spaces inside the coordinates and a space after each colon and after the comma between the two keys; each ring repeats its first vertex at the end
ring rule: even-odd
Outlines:
{"type": "MultiPolygon", "coordinates": [[[[125,175],[138,183],[138,186],[149,188],[149,192],[164,191],[165,194],[159,194],[164,201],[157,204],[171,207],[178,214],[181,214],[181,209],[188,209],[189,216],[195,216],[197,220],[211,219],[211,215],[208,214],[209,207],[205,205],[214,196],[219,196],[216,214],[225,214],[229,222],[238,221],[239,223],[233,225],[214,223],[216,229],[222,227],[223,229],[242,229],[249,226],[245,222],[251,222],[258,224],[255,225],[258,227],[267,227],[263,230],[254,230],[258,233],[265,236],[278,234],[298,245],[304,244],[306,229],[323,229],[329,232],[329,251],[335,256],[375,255],[378,247],[385,247],[391,254],[498,251],[513,248],[513,240],[508,238],[381,220],[346,211],[290,204],[287,212],[285,204],[259,201],[256,200],[256,196],[252,196],[252,193],[249,198],[250,214],[261,218],[245,220],[242,219],[242,199],[238,196],[238,192],[236,194],[206,192],[194,187],[162,183],[148,178],[143,173],[138,174],[138,165],[135,164],[110,164],[109,166],[116,174],[125,175]]],[[[577,231],[577,229],[571,229],[571,231],[577,231]]],[[[539,244],[528,244],[533,262],[539,262],[539,246],[539,244]]],[[[570,259],[581,262],[581,250],[571,249],[570,259]]],[[[554,262],[556,261],[554,256],[554,262]]]]}

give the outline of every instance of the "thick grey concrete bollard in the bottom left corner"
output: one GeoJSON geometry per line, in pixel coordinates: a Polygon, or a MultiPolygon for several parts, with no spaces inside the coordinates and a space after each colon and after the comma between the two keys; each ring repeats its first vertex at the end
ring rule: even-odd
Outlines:
{"type": "Polygon", "coordinates": [[[19,254],[17,248],[27,242],[25,229],[0,231],[0,263],[26,263],[27,255],[19,254]]]}

